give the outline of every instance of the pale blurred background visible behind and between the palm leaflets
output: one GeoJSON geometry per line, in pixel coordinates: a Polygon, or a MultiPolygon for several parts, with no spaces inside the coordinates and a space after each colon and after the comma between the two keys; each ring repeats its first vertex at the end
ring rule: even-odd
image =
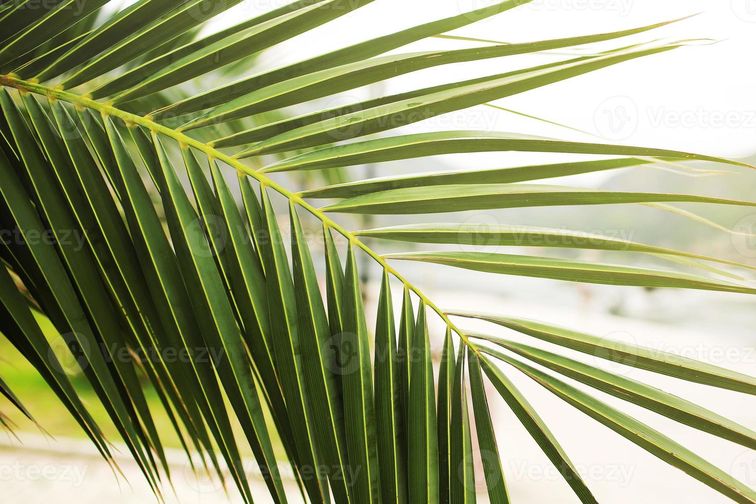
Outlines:
{"type": "MultiPolygon", "coordinates": [[[[215,18],[206,30],[214,31],[230,26],[243,18],[277,8],[284,3],[287,2],[247,0],[215,18]]],[[[129,2],[123,2],[123,5],[128,4],[129,2]]],[[[231,78],[237,79],[352,42],[490,4],[490,0],[378,0],[272,51],[244,60],[243,64],[234,67],[233,73],[210,74],[196,79],[181,90],[166,92],[197,92],[231,78]]],[[[756,0],[534,0],[528,5],[482,20],[453,34],[497,42],[528,42],[627,29],[696,13],[700,14],[654,32],[635,36],[632,40],[615,42],[619,46],[649,42],[655,38],[690,40],[686,42],[686,47],[621,63],[495,102],[497,107],[507,110],[474,107],[402,128],[402,132],[441,129],[516,131],[574,141],[604,141],[687,150],[737,157],[753,164],[756,162],[756,66],[753,64],[756,0]]],[[[476,45],[480,45],[480,42],[428,39],[402,48],[401,52],[476,45]]],[[[506,72],[565,59],[568,54],[595,52],[615,45],[581,47],[578,50],[556,51],[556,54],[505,57],[453,67],[440,66],[350,91],[348,95],[327,97],[312,104],[292,107],[282,113],[299,115],[308,110],[349,104],[379,94],[393,94],[426,85],[506,72]]],[[[280,179],[287,187],[300,189],[365,175],[484,169],[578,159],[587,158],[541,153],[448,155],[422,161],[352,167],[327,176],[317,172],[307,178],[302,178],[301,175],[280,175],[280,179]]],[[[756,174],[748,172],[748,169],[733,169],[729,165],[689,164],[640,166],[544,183],[754,200],[754,181],[756,174]]],[[[695,212],[696,217],[640,205],[609,205],[466,212],[463,219],[454,218],[454,221],[462,220],[483,226],[517,224],[582,230],[756,266],[756,237],[751,236],[756,233],[756,213],[752,210],[714,208],[700,204],[680,204],[677,208],[682,212],[695,212]]],[[[445,218],[445,215],[429,216],[429,219],[434,218],[437,221],[451,220],[448,216],[445,218]]],[[[402,217],[365,221],[345,216],[337,220],[350,229],[410,222],[402,217]]],[[[314,230],[318,229],[314,221],[310,224],[314,230]]],[[[282,219],[281,225],[286,227],[288,218],[282,219]]],[[[419,249],[407,244],[377,241],[371,241],[369,245],[381,252],[419,249]]],[[[313,254],[317,255],[317,243],[311,246],[313,254]]],[[[496,252],[497,249],[499,248],[494,243],[486,251],[496,252]]],[[[503,247],[500,251],[505,252],[503,247]]],[[[506,252],[685,269],[679,264],[651,256],[617,252],[574,252],[561,249],[522,249],[518,252],[511,247],[506,252]]],[[[756,376],[756,301],[749,296],[587,286],[556,280],[497,277],[414,263],[397,263],[395,266],[442,308],[491,311],[544,320],[611,339],[649,345],[660,351],[682,354],[756,376]]],[[[380,278],[376,273],[378,271],[373,264],[365,261],[365,279],[380,278]]],[[[749,279],[744,283],[754,285],[749,279]]],[[[374,313],[378,286],[368,281],[364,294],[368,312],[374,313]]],[[[395,300],[397,298],[395,296],[395,300]]],[[[433,321],[437,324],[432,326],[432,334],[435,357],[438,358],[444,328],[439,320],[433,321]]],[[[45,321],[42,320],[42,323],[45,321]]],[[[371,324],[374,325],[374,321],[368,320],[368,326],[371,324]]],[[[470,323],[469,326],[476,329],[475,323],[470,323]]],[[[54,340],[54,328],[49,323],[47,327],[48,336],[54,340]]],[[[495,332],[490,326],[485,329],[495,332]]],[[[517,335],[510,332],[507,337],[517,338],[517,335]]],[[[528,340],[528,344],[547,348],[547,344],[541,345],[532,340],[528,340]]],[[[62,345],[60,352],[64,355],[62,345]]],[[[681,380],[655,376],[606,360],[590,360],[590,357],[569,351],[565,351],[565,354],[578,360],[587,358],[589,363],[596,366],[649,382],[736,422],[756,428],[754,397],[704,385],[692,386],[681,380]]],[[[71,363],[69,370],[76,380],[75,363],[71,363]]],[[[128,482],[113,475],[107,465],[101,462],[73,419],[67,416],[54,395],[45,388],[42,379],[2,338],[0,374],[47,431],[42,433],[20,416],[11,415],[10,419],[17,424],[17,438],[12,434],[5,438],[0,436],[0,488],[4,494],[11,496],[12,502],[47,502],[50,499],[74,498],[78,502],[99,502],[104,497],[110,502],[153,501],[146,482],[138,469],[130,464],[127,453],[118,460],[128,482]]],[[[541,413],[600,502],[730,502],[704,484],[665,465],[608,428],[557,400],[529,379],[514,373],[510,376],[541,413]]],[[[87,397],[84,380],[76,383],[87,397]]],[[[693,451],[745,484],[756,487],[756,452],[694,431],[614,397],[598,392],[596,394],[675,441],[693,448],[693,451]]],[[[104,430],[106,434],[110,434],[111,439],[117,439],[113,429],[108,430],[110,426],[107,417],[98,411],[95,395],[90,394],[89,397],[95,418],[101,419],[104,430]]],[[[491,391],[488,399],[494,411],[500,455],[513,502],[579,502],[500,397],[491,391]]],[[[153,397],[153,400],[156,398],[153,397]]],[[[13,411],[2,400],[0,410],[13,411]]],[[[156,411],[159,412],[160,407],[156,411]]],[[[229,490],[230,496],[226,496],[219,481],[195,475],[191,471],[179,450],[178,440],[171,438],[172,428],[166,423],[167,419],[157,415],[156,422],[159,428],[163,425],[166,444],[173,447],[170,455],[175,467],[175,495],[170,489],[166,489],[166,500],[182,503],[235,502],[234,490],[229,490]]],[[[252,460],[250,458],[247,464],[249,477],[259,483],[262,480],[256,475],[252,460]]],[[[482,491],[479,502],[486,502],[480,465],[477,469],[482,491]]],[[[256,502],[267,502],[266,494],[264,488],[256,493],[256,502]]],[[[296,489],[293,489],[290,502],[299,502],[297,495],[296,489]]]]}

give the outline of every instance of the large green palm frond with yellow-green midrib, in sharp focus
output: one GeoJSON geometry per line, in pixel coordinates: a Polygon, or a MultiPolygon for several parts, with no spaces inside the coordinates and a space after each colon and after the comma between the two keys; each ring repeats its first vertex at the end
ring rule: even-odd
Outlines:
{"type": "MultiPolygon", "coordinates": [[[[72,8],[73,0],[24,8],[29,2],[0,6],[5,38],[0,68],[7,73],[0,76],[0,224],[24,237],[0,248],[2,331],[114,470],[109,441],[51,357],[38,319],[52,323],[76,358],[157,498],[171,474],[165,434],[153,419],[156,405],[147,400],[150,391],[159,397],[187,456],[206,454],[203,470],[221,478],[228,473],[244,502],[253,502],[245,473],[247,449],[278,504],[294,499],[476,502],[476,468],[482,468],[490,502],[510,502],[486,376],[575,496],[596,502],[590,481],[581,478],[511,379],[516,369],[668,465],[736,502],[756,502],[754,490],[711,462],[560,377],[750,449],[756,449],[754,431],[558,352],[578,351],[742,394],[756,394],[756,379],[547,322],[443,311],[392,265],[415,261],[580,283],[756,293],[739,276],[754,267],[724,258],[526,222],[485,228],[456,221],[423,223],[427,214],[466,210],[643,204],[717,226],[668,203],[756,203],[526,183],[656,162],[754,168],[745,162],[501,131],[384,135],[673,51],[687,41],[625,45],[327,110],[316,101],[434,66],[608,42],[674,21],[519,43],[448,34],[525,3],[507,0],[245,76],[250,58],[261,51],[346,14],[360,14],[372,0],[299,0],[212,33],[200,32],[206,20],[240,0],[138,0],[122,11],[111,10],[107,0],[85,2],[79,11],[72,8]],[[389,54],[432,37],[485,45],[389,54]],[[193,89],[191,81],[201,76],[213,76],[215,87],[193,89]],[[217,79],[237,80],[217,85],[217,79]],[[283,115],[284,107],[297,107],[299,115],[283,115]],[[178,128],[175,119],[183,122],[178,128]],[[379,178],[352,177],[349,169],[447,153],[510,151],[613,157],[379,178]],[[305,172],[336,169],[346,169],[349,181],[304,190],[272,175],[287,172],[287,181],[309,182],[305,172]],[[317,208],[313,199],[337,201],[317,208]],[[334,217],[345,213],[419,220],[351,230],[334,217]],[[308,221],[318,225],[314,234],[322,236],[322,250],[311,243],[308,221]],[[282,225],[286,222],[290,233],[282,225]],[[33,239],[45,233],[51,240],[33,239]],[[70,240],[72,233],[82,242],[70,240]],[[345,246],[339,249],[334,236],[345,246]],[[367,238],[383,245],[636,252],[666,258],[674,267],[447,249],[383,253],[367,238]],[[360,265],[363,256],[381,272],[373,335],[364,301],[373,288],[364,278],[372,270],[360,265]],[[393,262],[398,260],[403,262],[393,262]],[[681,271],[679,264],[707,274],[681,271]],[[396,313],[398,290],[392,283],[401,284],[396,313]],[[463,329],[457,322],[469,319],[548,342],[556,351],[463,329]],[[438,335],[444,343],[435,376],[432,339],[438,320],[445,330],[438,335]],[[301,496],[288,490],[282,462],[292,467],[301,496]]],[[[380,2],[371,5],[376,7],[380,2]]],[[[0,394],[33,418],[11,387],[0,379],[0,394]]],[[[0,422],[8,426],[5,416],[0,422]]]]}

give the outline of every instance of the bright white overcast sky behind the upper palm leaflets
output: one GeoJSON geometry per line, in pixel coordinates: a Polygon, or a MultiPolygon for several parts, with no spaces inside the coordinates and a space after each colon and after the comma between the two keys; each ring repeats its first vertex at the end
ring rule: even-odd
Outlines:
{"type": "MultiPolygon", "coordinates": [[[[259,9],[267,10],[283,3],[287,0],[245,0],[215,20],[213,28],[237,23],[259,9]]],[[[376,0],[281,45],[266,60],[278,66],[492,3],[493,0],[376,0]]],[[[756,0],[534,0],[454,34],[528,42],[628,29],[698,12],[702,14],[692,19],[608,42],[600,48],[658,38],[707,38],[722,42],[643,57],[496,103],[602,135],[612,142],[746,156],[756,151],[756,66],[753,64],[756,0]]],[[[475,45],[430,39],[395,52],[475,45]]],[[[391,79],[380,92],[453,82],[554,58],[530,55],[441,66],[391,79]]],[[[423,127],[485,128],[591,140],[562,128],[496,113],[488,107],[431,120],[423,127]]],[[[408,131],[420,131],[420,128],[416,125],[408,131]]],[[[544,155],[541,154],[540,159],[544,159],[544,155]]]]}

